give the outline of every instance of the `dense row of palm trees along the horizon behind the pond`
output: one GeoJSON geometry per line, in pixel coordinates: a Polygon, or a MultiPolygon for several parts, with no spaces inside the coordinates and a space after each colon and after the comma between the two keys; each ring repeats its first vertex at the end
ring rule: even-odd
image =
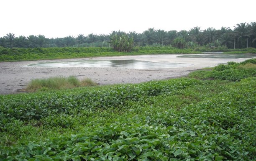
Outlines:
{"type": "MultiPolygon", "coordinates": [[[[212,48],[222,46],[228,49],[256,48],[256,22],[240,23],[234,27],[234,30],[229,27],[222,27],[218,30],[209,27],[201,30],[200,27],[196,26],[189,31],[182,30],[179,32],[148,28],[143,33],[112,31],[109,35],[91,33],[88,36],[79,34],[77,37],[67,36],[64,38],[46,38],[41,34],[26,37],[8,33],[0,38],[0,46],[8,48],[110,47],[111,43],[114,43],[112,41],[114,35],[126,35],[126,37],[133,38],[134,46],[173,46],[179,49],[198,46],[212,48]]],[[[131,46],[131,44],[129,45],[131,46]]]]}

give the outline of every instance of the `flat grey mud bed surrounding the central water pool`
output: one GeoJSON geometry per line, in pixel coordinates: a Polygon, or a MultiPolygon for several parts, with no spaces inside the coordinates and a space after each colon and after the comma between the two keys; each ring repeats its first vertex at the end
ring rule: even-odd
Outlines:
{"type": "Polygon", "coordinates": [[[28,64],[46,61],[72,61],[87,59],[61,59],[46,61],[18,61],[0,63],[0,94],[18,93],[26,87],[31,79],[48,78],[54,76],[75,76],[79,79],[90,78],[99,84],[140,83],[151,80],[180,77],[189,72],[204,67],[216,66],[228,61],[241,62],[251,58],[239,59],[207,59],[207,58],[177,58],[177,54],[141,55],[141,56],[113,56],[97,57],[93,59],[136,59],[153,62],[173,62],[191,64],[188,67],[159,68],[159,69],[121,69],[100,67],[72,67],[47,68],[31,67],[28,64]]]}

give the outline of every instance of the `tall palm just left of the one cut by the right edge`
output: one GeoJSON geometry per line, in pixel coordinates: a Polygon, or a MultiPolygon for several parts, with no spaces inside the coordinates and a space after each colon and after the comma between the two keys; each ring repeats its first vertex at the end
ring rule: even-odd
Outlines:
{"type": "Polygon", "coordinates": [[[241,41],[241,47],[243,46],[244,39],[247,38],[247,48],[248,48],[248,37],[250,36],[248,23],[240,23],[234,26],[234,34],[241,41]]]}

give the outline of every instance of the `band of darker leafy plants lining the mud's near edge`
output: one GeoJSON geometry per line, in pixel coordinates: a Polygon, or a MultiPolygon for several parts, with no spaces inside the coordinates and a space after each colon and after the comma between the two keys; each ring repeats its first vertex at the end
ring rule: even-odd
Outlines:
{"type": "MultiPolygon", "coordinates": [[[[46,84],[48,84],[48,81],[51,80],[40,79],[39,81],[46,81],[46,84]]],[[[54,78],[54,83],[55,80],[56,78],[54,78]]],[[[108,90],[99,91],[81,89],[63,94],[46,93],[45,95],[42,94],[39,96],[33,94],[30,96],[17,95],[17,97],[11,97],[10,99],[6,97],[5,99],[0,98],[0,108],[3,118],[38,120],[58,113],[74,114],[77,110],[87,108],[123,107],[127,103],[126,100],[139,101],[143,100],[144,97],[175,92],[177,89],[185,88],[197,82],[196,80],[181,79],[169,82],[155,81],[145,84],[120,85],[108,90]],[[70,100],[72,101],[70,102],[70,100]],[[17,108],[15,105],[19,107],[17,108]],[[26,109],[26,112],[18,110],[20,108],[23,110],[26,109]]]]}

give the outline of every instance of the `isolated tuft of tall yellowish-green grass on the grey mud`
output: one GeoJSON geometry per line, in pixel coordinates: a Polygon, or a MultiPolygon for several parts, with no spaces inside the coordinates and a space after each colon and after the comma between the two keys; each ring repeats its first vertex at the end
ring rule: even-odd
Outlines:
{"type": "Polygon", "coordinates": [[[74,87],[95,86],[97,83],[86,78],[81,81],[74,76],[70,77],[50,77],[46,79],[33,79],[24,91],[35,92],[47,89],[68,89],[74,87]]]}

